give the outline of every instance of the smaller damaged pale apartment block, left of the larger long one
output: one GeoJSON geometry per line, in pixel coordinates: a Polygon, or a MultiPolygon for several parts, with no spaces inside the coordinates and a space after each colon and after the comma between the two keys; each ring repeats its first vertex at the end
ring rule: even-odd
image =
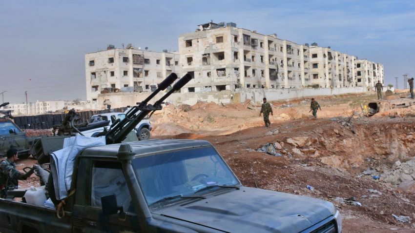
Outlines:
{"type": "Polygon", "coordinates": [[[180,74],[178,53],[108,45],[85,54],[86,97],[96,101],[101,93],[153,91],[172,72],[180,74]]]}

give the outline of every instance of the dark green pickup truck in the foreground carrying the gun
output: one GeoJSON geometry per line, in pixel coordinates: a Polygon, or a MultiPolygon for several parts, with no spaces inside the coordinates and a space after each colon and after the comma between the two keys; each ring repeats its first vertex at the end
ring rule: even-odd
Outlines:
{"type": "Polygon", "coordinates": [[[203,140],[86,148],[71,190],[60,219],[53,209],[0,199],[0,232],[341,232],[331,202],[244,187],[203,140]]]}

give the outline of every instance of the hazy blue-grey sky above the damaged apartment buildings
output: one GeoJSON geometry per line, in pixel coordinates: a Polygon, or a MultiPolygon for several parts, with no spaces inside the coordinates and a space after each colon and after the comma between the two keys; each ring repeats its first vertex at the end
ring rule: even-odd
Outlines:
{"type": "Polygon", "coordinates": [[[415,76],[414,0],[0,0],[0,93],[84,100],[85,53],[177,51],[180,34],[210,20],[382,63],[385,84],[399,77],[399,88],[415,76]]]}

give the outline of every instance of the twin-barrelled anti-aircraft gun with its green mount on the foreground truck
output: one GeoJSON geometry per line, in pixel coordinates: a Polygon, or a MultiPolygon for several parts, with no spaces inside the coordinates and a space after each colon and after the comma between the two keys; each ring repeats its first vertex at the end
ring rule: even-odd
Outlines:
{"type": "MultiPolygon", "coordinates": [[[[175,73],[171,73],[165,80],[163,80],[158,88],[152,92],[145,100],[137,103],[136,106],[133,106],[125,114],[124,119],[118,118],[115,120],[108,131],[104,130],[96,136],[105,136],[106,144],[120,143],[131,133],[131,131],[136,127],[136,125],[143,120],[148,114],[151,115],[157,111],[163,109],[163,101],[166,100],[171,94],[176,91],[179,91],[188,81],[191,80],[191,76],[186,74],[183,78],[180,78],[173,87],[160,99],[154,102],[154,104],[149,104],[148,102],[154,98],[161,91],[166,90],[177,79],[175,73]]],[[[66,124],[64,129],[61,132],[77,132],[80,128],[75,127],[74,121],[77,119],[77,114],[74,112],[68,119],[66,119],[66,124]],[[72,127],[69,129],[68,126],[72,127]]],[[[108,124],[108,122],[106,123],[108,124]]],[[[78,125],[76,125],[78,126],[78,125]]],[[[78,132],[79,133],[79,132],[78,132]]],[[[59,134],[58,134],[59,135],[59,134]]],[[[81,134],[82,135],[82,134],[81,134]]],[[[62,149],[64,137],[68,137],[68,134],[62,134],[62,136],[51,136],[51,137],[42,137],[39,138],[33,145],[32,154],[38,160],[40,164],[49,162],[49,154],[62,149]]]]}

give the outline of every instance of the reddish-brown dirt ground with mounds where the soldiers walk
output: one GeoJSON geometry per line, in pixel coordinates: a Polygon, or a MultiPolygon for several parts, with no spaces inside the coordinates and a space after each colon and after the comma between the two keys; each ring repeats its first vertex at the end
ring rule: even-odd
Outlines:
{"type": "MultiPolygon", "coordinates": [[[[331,201],[342,214],[345,233],[415,232],[415,194],[399,193],[394,185],[362,173],[370,168],[382,174],[395,161],[414,157],[415,109],[361,116],[360,103],[374,97],[317,98],[323,109],[318,119],[308,113],[310,99],[272,102],[270,128],[258,116],[259,104],[167,106],[151,119],[152,137],[207,140],[245,186],[331,201]],[[275,152],[281,156],[256,151],[267,143],[278,143],[275,152]],[[340,203],[336,197],[355,197],[362,206],[340,203]],[[401,223],[392,214],[409,216],[411,223],[401,223]]],[[[35,162],[23,159],[17,166],[35,162]]],[[[37,182],[32,175],[20,184],[37,182]]]]}

